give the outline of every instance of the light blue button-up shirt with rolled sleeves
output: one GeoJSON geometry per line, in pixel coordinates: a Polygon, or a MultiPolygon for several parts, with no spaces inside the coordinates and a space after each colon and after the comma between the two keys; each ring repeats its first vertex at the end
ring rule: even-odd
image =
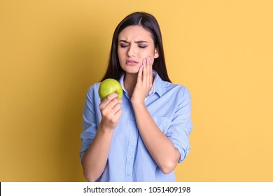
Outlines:
{"type": "MultiPolygon", "coordinates": [[[[193,129],[190,92],[182,85],[162,80],[155,71],[154,74],[153,87],[145,100],[146,108],[160,130],[179,150],[179,162],[182,162],[190,151],[189,134],[193,129]]],[[[123,77],[119,80],[122,86],[123,77]]],[[[90,87],[85,99],[80,159],[92,143],[102,119],[99,84],[90,87]]],[[[174,172],[163,174],[151,157],[139,134],[130,97],[124,86],[123,93],[123,113],[113,132],[106,168],[97,181],[176,181],[174,172]]]]}

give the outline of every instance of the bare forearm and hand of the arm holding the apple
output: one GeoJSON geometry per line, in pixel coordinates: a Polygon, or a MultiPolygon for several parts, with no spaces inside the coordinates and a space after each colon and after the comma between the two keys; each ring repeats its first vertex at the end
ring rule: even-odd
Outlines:
{"type": "Polygon", "coordinates": [[[106,167],[113,130],[118,125],[121,116],[122,99],[118,94],[109,94],[99,104],[102,121],[88,150],[83,155],[83,173],[88,181],[97,181],[106,167]],[[103,144],[103,145],[102,145],[103,144]]]}

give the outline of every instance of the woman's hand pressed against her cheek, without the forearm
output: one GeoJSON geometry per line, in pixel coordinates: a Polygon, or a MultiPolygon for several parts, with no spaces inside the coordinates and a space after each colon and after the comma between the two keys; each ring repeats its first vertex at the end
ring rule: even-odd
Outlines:
{"type": "Polygon", "coordinates": [[[132,93],[132,104],[145,104],[145,97],[153,85],[153,63],[151,57],[144,59],[139,68],[137,84],[132,93]]]}

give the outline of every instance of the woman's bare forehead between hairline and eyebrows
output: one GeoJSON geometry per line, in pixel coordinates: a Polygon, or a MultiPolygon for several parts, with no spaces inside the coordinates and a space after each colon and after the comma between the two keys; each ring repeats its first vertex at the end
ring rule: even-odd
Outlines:
{"type": "Polygon", "coordinates": [[[118,35],[118,39],[124,39],[127,41],[153,41],[152,34],[150,31],[144,29],[141,26],[128,26],[118,35]]]}

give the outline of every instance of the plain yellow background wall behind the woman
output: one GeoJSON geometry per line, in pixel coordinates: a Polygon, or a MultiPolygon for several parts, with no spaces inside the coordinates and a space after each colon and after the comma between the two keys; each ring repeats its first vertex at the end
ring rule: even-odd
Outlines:
{"type": "Polygon", "coordinates": [[[173,83],[193,98],[178,181],[273,181],[273,3],[0,0],[0,181],[85,181],[87,88],[106,71],[113,30],[152,13],[173,83]]]}

